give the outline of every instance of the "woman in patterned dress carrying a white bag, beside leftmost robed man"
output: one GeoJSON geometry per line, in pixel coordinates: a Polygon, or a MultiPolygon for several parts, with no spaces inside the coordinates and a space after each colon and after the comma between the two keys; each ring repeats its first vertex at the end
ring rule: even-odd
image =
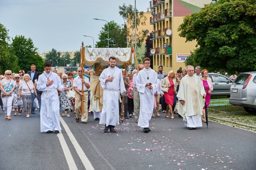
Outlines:
{"type": "MultiPolygon", "coordinates": [[[[67,74],[62,74],[62,77],[61,77],[61,84],[63,86],[65,86],[66,88],[68,88],[68,91],[72,90],[73,89],[73,84],[71,82],[70,79],[68,79],[68,75],[67,74]]],[[[62,114],[61,116],[65,116],[65,107],[68,106],[68,109],[70,110],[71,109],[71,104],[70,104],[70,99],[67,98],[67,93],[64,92],[60,92],[60,105],[61,105],[61,108],[62,108],[62,114]]],[[[67,117],[70,117],[70,115],[68,114],[67,117]]]]}

